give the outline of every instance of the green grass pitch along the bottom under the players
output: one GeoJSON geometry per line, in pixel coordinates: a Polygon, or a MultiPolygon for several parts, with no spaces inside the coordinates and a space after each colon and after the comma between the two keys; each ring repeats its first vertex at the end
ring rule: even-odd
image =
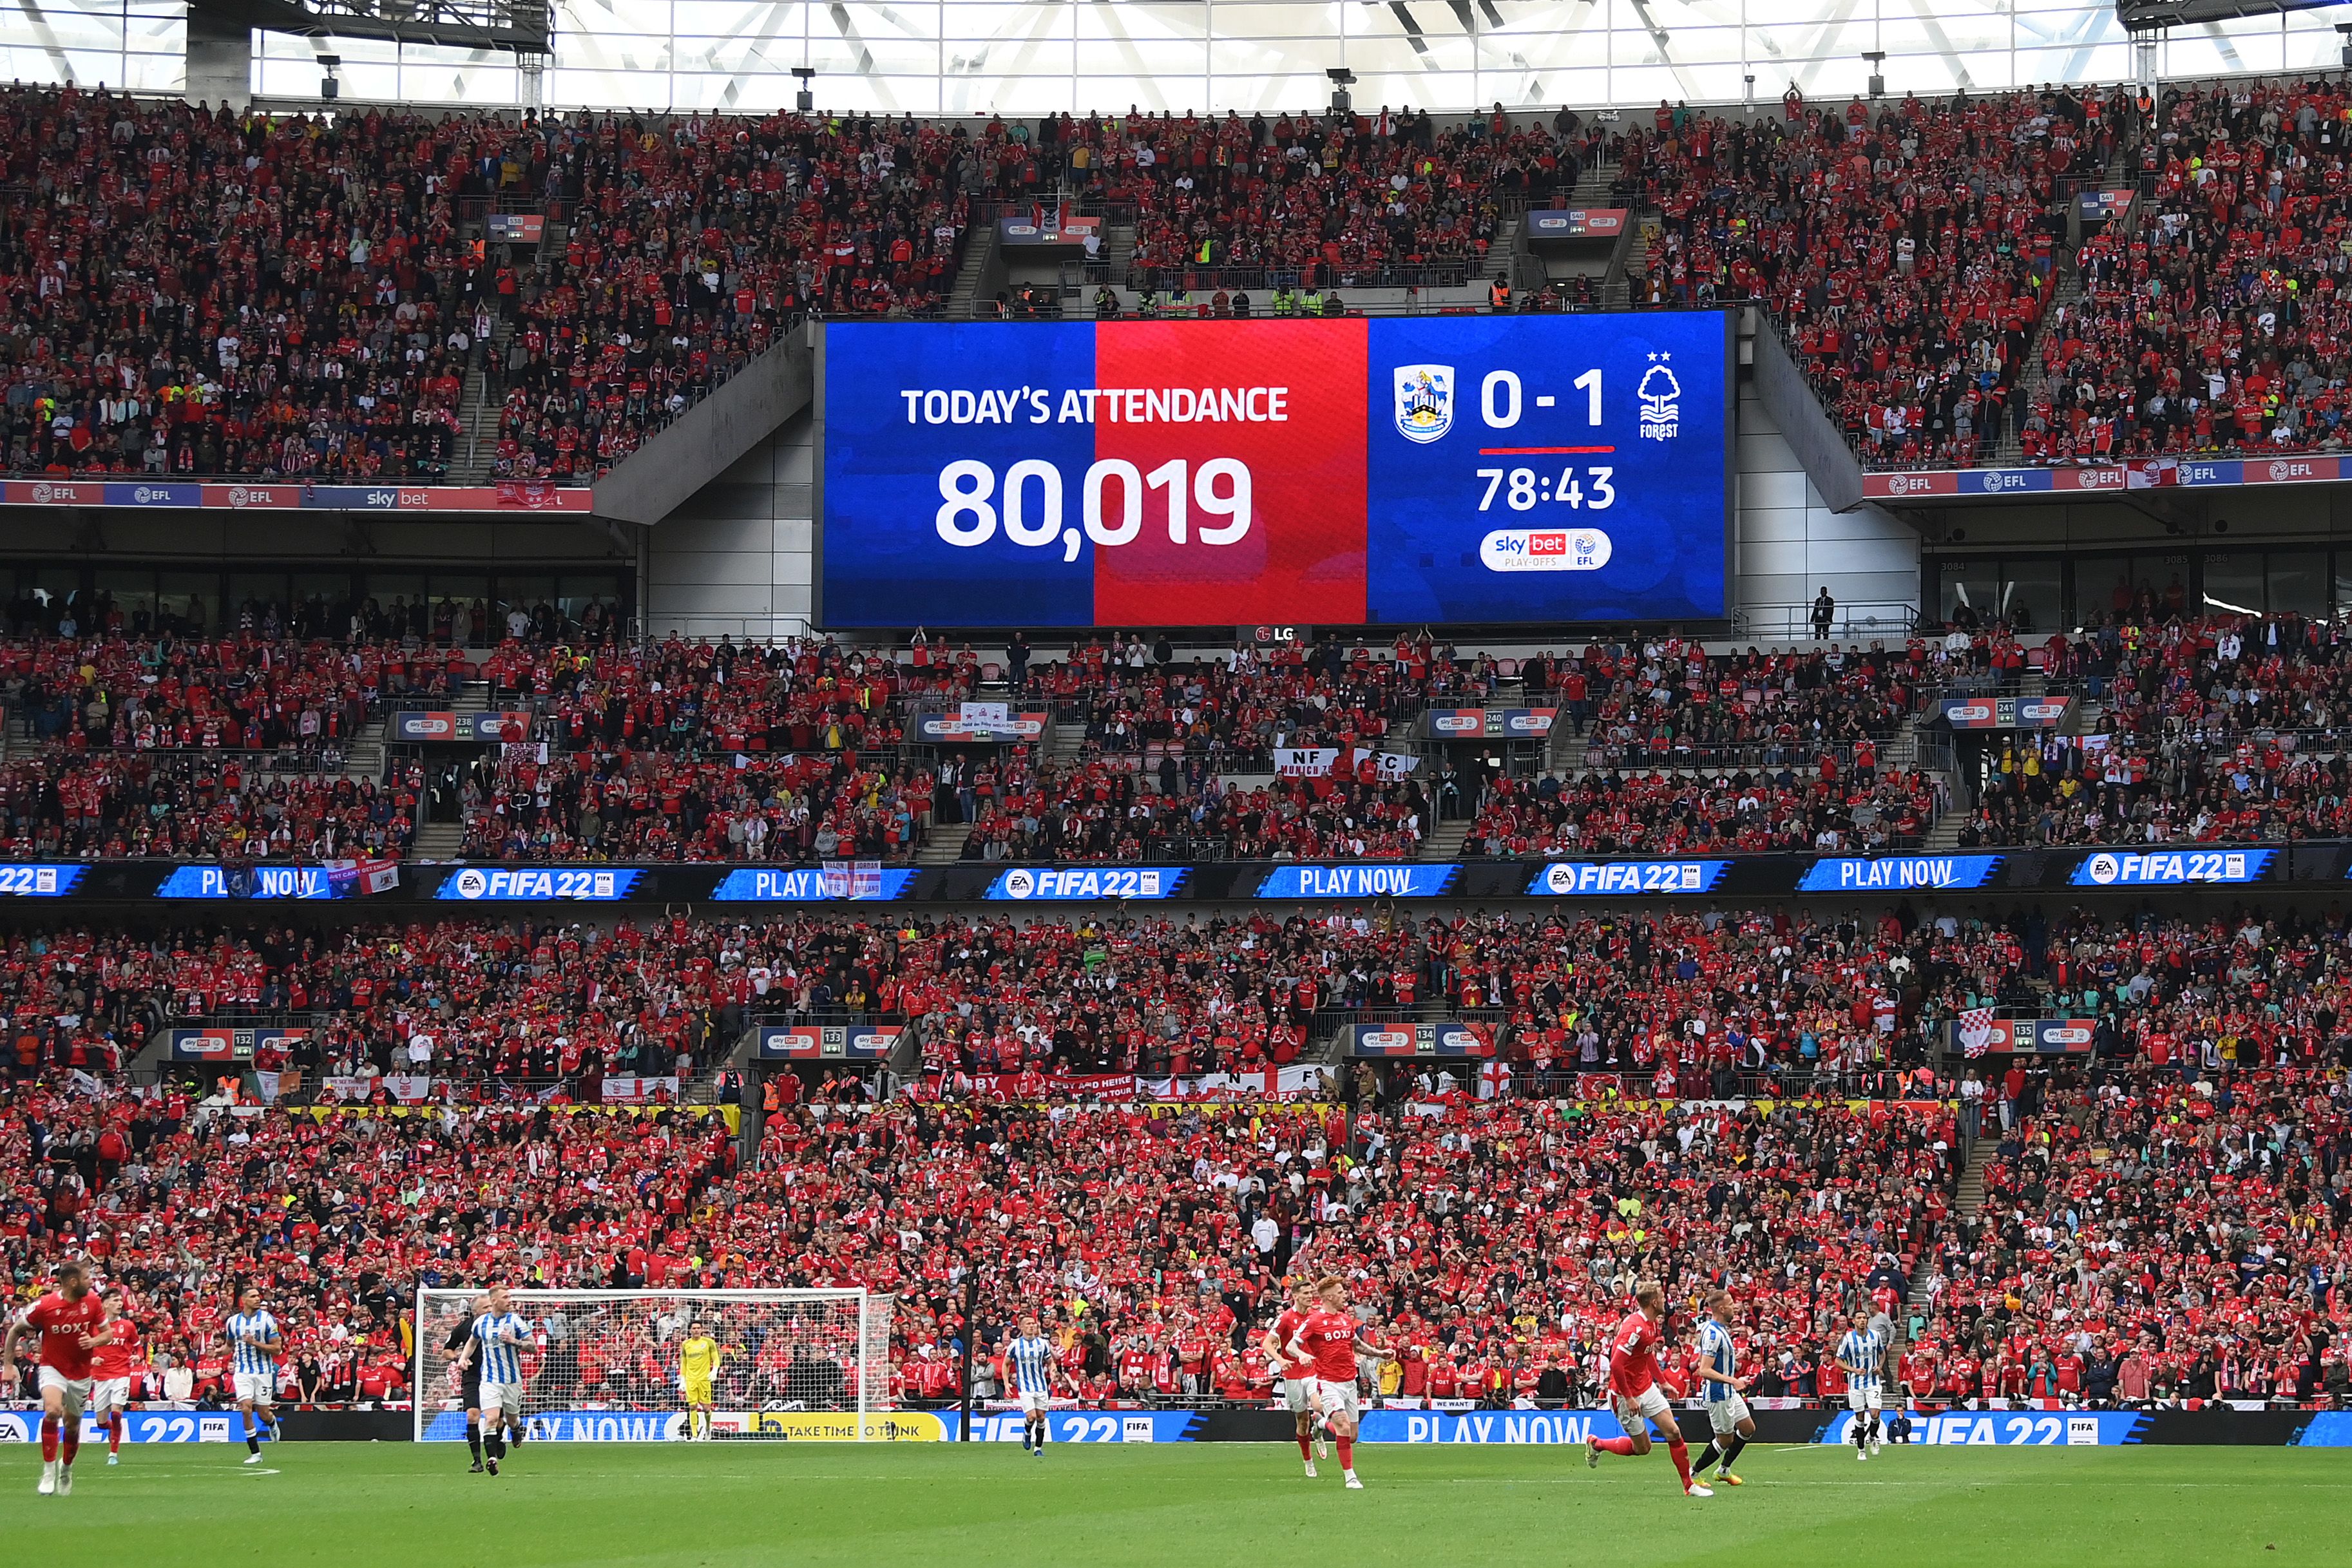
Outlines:
{"type": "Polygon", "coordinates": [[[1367,1490],[1277,1446],[574,1446],[499,1479],[461,1446],[82,1448],[71,1497],[0,1453],[0,1540],[68,1563],[2161,1563],[2347,1561],[2352,1467],[2324,1448],[1750,1448],[1743,1488],[1686,1500],[1663,1453],[1364,1448],[1367,1490]]]}

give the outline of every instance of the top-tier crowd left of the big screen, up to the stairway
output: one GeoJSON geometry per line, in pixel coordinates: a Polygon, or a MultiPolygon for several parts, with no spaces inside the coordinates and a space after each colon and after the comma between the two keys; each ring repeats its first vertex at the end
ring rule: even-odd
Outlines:
{"type": "Polygon", "coordinates": [[[1002,125],[0,94],[9,473],[590,480],[811,310],[934,310],[1002,125]],[[485,242],[492,212],[541,240],[485,242]]]}

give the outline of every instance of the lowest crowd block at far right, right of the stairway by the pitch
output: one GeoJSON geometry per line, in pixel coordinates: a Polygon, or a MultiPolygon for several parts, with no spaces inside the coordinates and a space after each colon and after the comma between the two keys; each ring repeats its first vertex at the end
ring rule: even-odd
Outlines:
{"type": "Polygon", "coordinates": [[[1983,1211],[1929,1253],[1903,1380],[1947,1401],[2343,1408],[2345,1077],[2237,1067],[2020,1086],[1983,1211]]]}

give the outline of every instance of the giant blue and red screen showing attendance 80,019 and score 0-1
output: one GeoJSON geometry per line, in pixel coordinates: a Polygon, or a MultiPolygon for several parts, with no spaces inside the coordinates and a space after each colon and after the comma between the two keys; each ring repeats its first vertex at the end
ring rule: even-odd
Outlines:
{"type": "Polygon", "coordinates": [[[1731,317],[837,322],[818,621],[1717,621],[1731,317]]]}

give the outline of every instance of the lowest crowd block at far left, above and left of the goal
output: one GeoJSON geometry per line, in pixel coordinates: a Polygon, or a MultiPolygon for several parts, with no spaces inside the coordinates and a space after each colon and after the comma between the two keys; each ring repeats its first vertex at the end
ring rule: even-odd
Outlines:
{"type": "Polygon", "coordinates": [[[19,1084],[0,1098],[0,1272],[33,1286],[80,1255],[120,1284],[139,1401],[226,1408],[221,1328],[256,1286],[285,1338],[282,1401],[388,1403],[414,1396],[416,1286],[677,1281],[731,1168],[727,1124],[687,1110],[289,1114],[202,1086],[19,1084]]]}

